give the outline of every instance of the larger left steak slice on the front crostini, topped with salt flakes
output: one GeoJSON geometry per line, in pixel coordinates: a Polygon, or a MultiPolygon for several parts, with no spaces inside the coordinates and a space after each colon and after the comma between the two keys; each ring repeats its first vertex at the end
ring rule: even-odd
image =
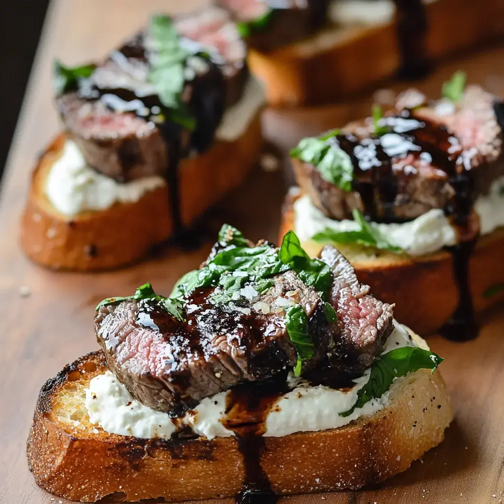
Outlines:
{"type": "Polygon", "coordinates": [[[184,323],[149,301],[108,305],[97,313],[95,331],[108,367],[147,406],[178,416],[239,382],[294,366],[285,304],[276,301],[299,302],[308,317],[323,309],[317,293],[290,271],[257,299],[213,304],[213,293],[193,293],[184,323]]]}

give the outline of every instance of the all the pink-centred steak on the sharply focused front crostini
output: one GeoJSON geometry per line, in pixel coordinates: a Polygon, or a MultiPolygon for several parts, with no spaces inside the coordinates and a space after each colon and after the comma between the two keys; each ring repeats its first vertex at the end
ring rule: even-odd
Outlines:
{"type": "Polygon", "coordinates": [[[303,374],[334,387],[351,385],[380,354],[393,307],[369,295],[334,247],[324,248],[322,260],[335,277],[334,324],[326,321],[319,294],[288,271],[265,294],[228,304],[211,302],[213,288],[197,290],[186,300],[184,322],[153,300],[101,307],[95,332],[107,365],[141,402],[179,416],[205,397],[294,367],[284,309],[300,304],[315,350],[303,374]]]}

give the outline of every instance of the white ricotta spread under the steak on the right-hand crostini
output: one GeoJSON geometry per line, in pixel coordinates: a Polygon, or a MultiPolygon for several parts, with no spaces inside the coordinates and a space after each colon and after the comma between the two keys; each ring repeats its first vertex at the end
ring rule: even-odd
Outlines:
{"type": "MultiPolygon", "coordinates": [[[[490,192],[479,196],[474,211],[480,219],[481,234],[488,234],[504,226],[504,177],[494,180],[490,192]]],[[[432,209],[410,222],[402,224],[373,223],[387,240],[401,247],[410,256],[423,256],[457,243],[457,231],[443,210],[432,209]]],[[[294,232],[301,241],[329,228],[334,231],[355,231],[359,225],[353,220],[333,220],[303,195],[294,203],[294,232]]]]}

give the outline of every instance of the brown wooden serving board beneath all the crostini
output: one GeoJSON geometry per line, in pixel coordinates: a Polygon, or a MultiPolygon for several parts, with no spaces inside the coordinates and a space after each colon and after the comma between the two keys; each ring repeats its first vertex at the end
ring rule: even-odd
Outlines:
{"type": "MultiPolygon", "coordinates": [[[[133,291],[145,281],[152,282],[160,292],[169,292],[183,272],[196,267],[206,256],[211,234],[224,221],[241,227],[253,239],[276,237],[285,179],[281,172],[258,171],[241,191],[230,195],[209,214],[200,250],[165,248],[151,260],[128,269],[83,275],[37,268],[19,249],[18,223],[29,173],[37,153],[58,129],[51,101],[52,58],[58,56],[74,64],[100,57],[142,25],[150,13],[170,8],[189,10],[200,3],[59,0],[51,6],[0,195],[2,503],[51,504],[60,500],[35,485],[26,465],[25,440],[43,382],[67,362],[97,348],[92,331],[97,301],[133,291]]],[[[420,87],[436,95],[447,76],[464,68],[470,81],[486,84],[504,96],[503,60],[501,48],[475,53],[439,69],[420,87]]],[[[369,104],[370,99],[363,99],[324,109],[269,110],[265,114],[266,133],[285,150],[302,135],[318,133],[366,114],[369,104]]],[[[414,463],[409,471],[380,487],[293,496],[281,502],[504,502],[504,313],[497,309],[488,314],[475,341],[456,344],[433,337],[430,344],[447,359],[440,369],[455,407],[455,421],[445,442],[414,463]]]]}

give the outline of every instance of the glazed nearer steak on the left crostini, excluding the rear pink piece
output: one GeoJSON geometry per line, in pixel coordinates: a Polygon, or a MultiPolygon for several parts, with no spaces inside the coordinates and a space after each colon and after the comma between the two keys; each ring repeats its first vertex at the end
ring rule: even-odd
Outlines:
{"type": "Polygon", "coordinates": [[[226,83],[221,68],[200,56],[187,58],[181,100],[195,117],[189,131],[166,113],[149,82],[150,66],[140,33],[99,65],[79,89],[59,96],[56,104],[66,128],[86,162],[118,181],[166,176],[170,160],[201,153],[214,142],[225,109],[226,83]],[[161,114],[161,115],[160,115],[161,114]]]}

